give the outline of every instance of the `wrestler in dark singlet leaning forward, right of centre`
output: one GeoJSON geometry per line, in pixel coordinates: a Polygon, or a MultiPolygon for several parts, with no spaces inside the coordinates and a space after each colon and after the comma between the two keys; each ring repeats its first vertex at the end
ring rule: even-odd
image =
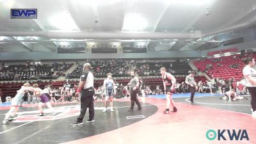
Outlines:
{"type": "Polygon", "coordinates": [[[172,93],[174,92],[174,86],[176,83],[175,77],[172,76],[172,74],[166,72],[165,67],[160,68],[160,73],[162,74],[163,84],[164,84],[164,92],[166,93],[166,109],[163,112],[164,114],[169,113],[169,107],[170,104],[172,104],[173,111],[177,112],[177,108],[175,107],[175,103],[172,99],[172,93]]]}

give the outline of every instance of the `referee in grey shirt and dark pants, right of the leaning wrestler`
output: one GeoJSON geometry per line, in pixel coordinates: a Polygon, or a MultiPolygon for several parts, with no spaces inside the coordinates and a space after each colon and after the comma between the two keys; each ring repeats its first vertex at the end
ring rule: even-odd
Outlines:
{"type": "Polygon", "coordinates": [[[196,93],[196,83],[195,83],[195,72],[191,71],[189,76],[186,77],[185,83],[188,84],[188,89],[191,92],[190,103],[195,104],[194,95],[196,93]]]}

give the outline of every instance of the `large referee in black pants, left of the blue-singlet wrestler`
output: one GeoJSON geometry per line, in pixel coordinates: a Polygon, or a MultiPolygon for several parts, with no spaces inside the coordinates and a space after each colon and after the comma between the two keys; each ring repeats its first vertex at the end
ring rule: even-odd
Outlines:
{"type": "Polygon", "coordinates": [[[81,111],[76,122],[72,123],[71,126],[82,125],[83,118],[86,113],[86,109],[89,108],[89,119],[86,122],[95,122],[94,117],[94,106],[93,106],[93,74],[91,70],[90,63],[84,63],[83,72],[80,77],[79,87],[77,89],[76,95],[81,93],[81,111]]]}

